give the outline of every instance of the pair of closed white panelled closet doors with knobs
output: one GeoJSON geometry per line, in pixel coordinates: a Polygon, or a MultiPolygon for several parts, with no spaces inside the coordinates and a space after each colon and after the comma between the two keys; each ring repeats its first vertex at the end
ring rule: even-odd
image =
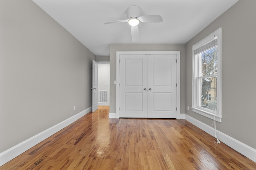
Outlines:
{"type": "Polygon", "coordinates": [[[177,55],[119,56],[120,117],[176,118],[177,55]]]}

